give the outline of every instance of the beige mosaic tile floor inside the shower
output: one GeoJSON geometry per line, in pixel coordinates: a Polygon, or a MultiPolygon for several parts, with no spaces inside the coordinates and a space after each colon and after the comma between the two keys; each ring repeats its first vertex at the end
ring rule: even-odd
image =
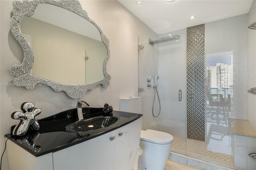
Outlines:
{"type": "Polygon", "coordinates": [[[184,154],[200,160],[216,162],[224,166],[233,166],[231,151],[228,146],[220,144],[209,144],[199,140],[187,139],[179,136],[173,136],[172,152],[184,154]]]}

